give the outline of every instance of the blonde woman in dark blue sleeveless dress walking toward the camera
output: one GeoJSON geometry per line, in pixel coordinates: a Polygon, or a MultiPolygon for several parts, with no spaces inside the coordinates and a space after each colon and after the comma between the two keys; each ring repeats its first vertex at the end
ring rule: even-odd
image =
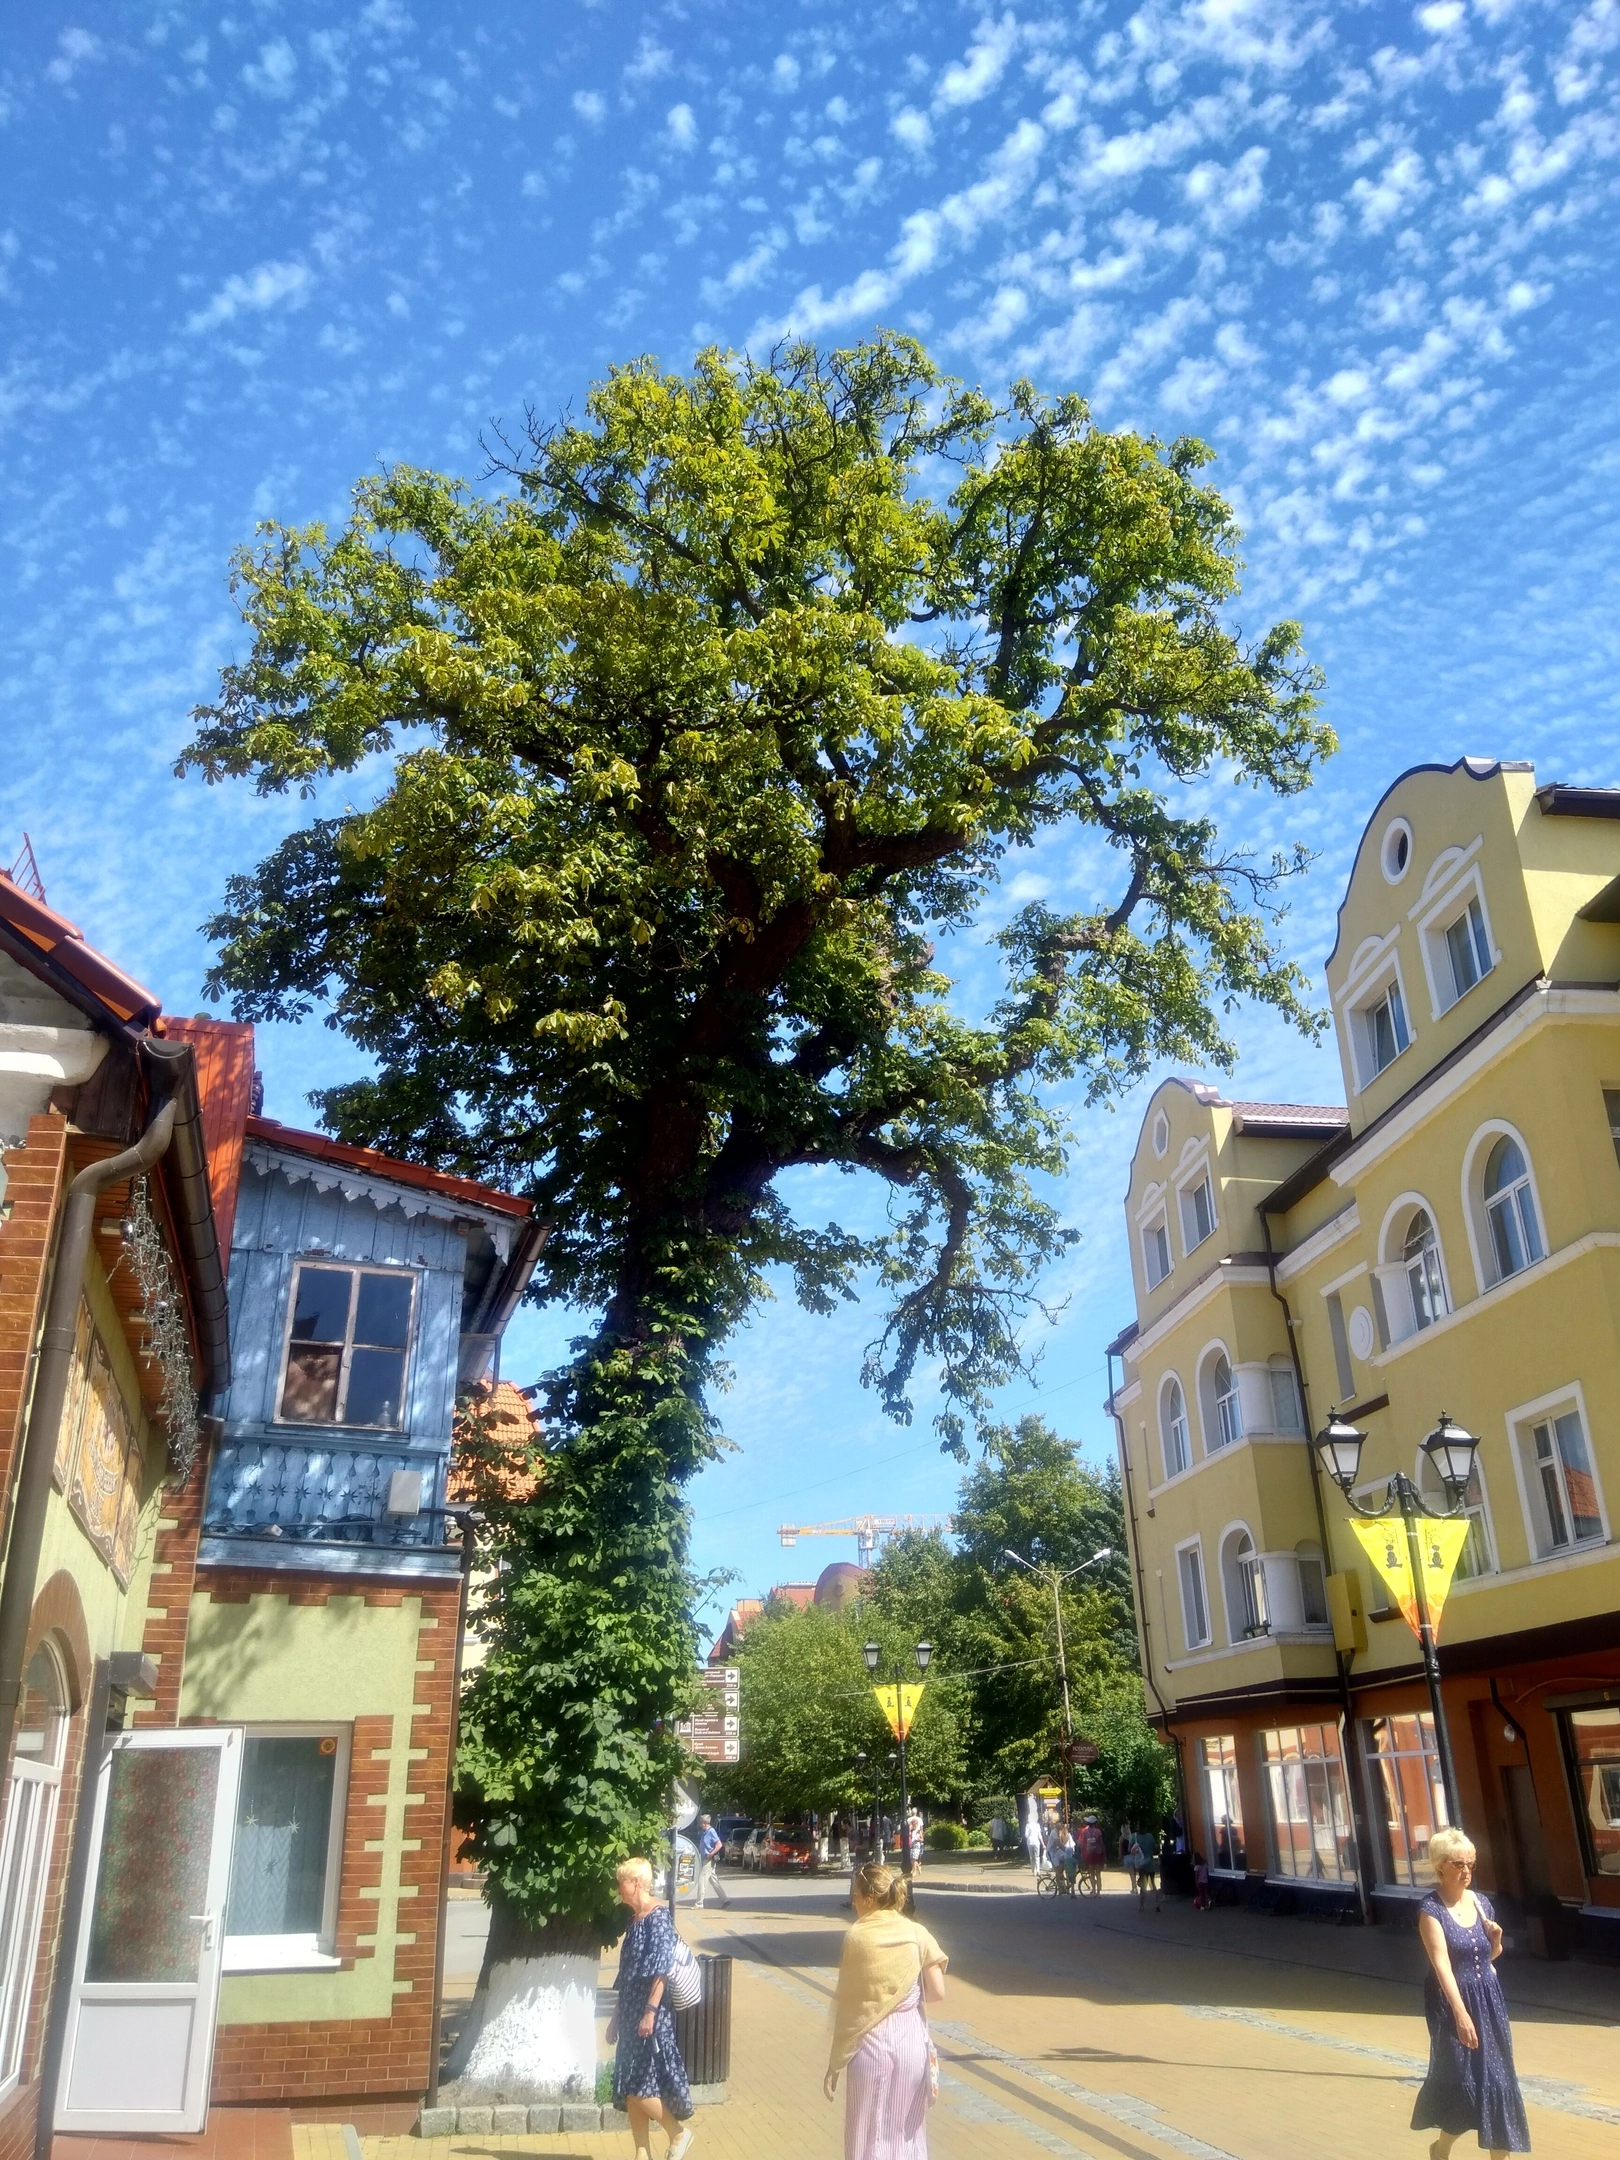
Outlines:
{"type": "Polygon", "coordinates": [[[1529,2151],[1529,2123],[1514,2074],[1514,2037],[1497,1979],[1501,1929],[1490,1899],[1473,1888],[1473,1845],[1436,1830],[1428,1849],[1439,1886],[1423,1899],[1417,1929],[1428,1950],[1423,2015],[1428,2078],[1413,2130],[1439,2130],[1430,2160],[1445,2160],[1469,2130],[1480,2149],[1529,2151]]]}

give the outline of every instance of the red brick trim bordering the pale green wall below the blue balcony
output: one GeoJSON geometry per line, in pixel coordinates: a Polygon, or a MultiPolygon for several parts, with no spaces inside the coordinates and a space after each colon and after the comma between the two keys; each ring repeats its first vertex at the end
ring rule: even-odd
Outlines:
{"type": "MultiPolygon", "coordinates": [[[[343,1579],[289,1583],[285,1577],[216,1575],[205,1570],[207,1590],[220,1603],[251,1594],[283,1594],[296,1603],[324,1605],[328,1596],[354,1596],[361,1585],[343,1579]],[[298,1596],[296,1592],[302,1592],[298,1596]]],[[[434,1935],[438,1927],[438,1873],[449,1819],[451,1674],[458,1583],[423,1583],[410,1590],[365,1590],[367,1605],[400,1605],[421,1598],[417,1635],[417,1700],[410,1713],[410,1747],[400,1862],[400,1935],[393,1950],[393,1998],[389,2017],[339,2017],[309,2024],[220,2026],[214,2043],[216,2104],[287,2104],[302,2119],[322,2102],[359,2100],[372,2106],[413,2100],[428,2089],[434,2035],[434,1935]]],[[[337,1899],[337,1955],[346,1963],[376,1957],[378,1899],[382,1890],[382,1830],[389,1780],[395,1760],[395,1719],[356,1717],[350,1752],[348,1808],[343,1819],[343,1877],[337,1899]]],[[[343,2117],[352,2121],[352,2115],[343,2117]]],[[[6,2160],[0,2154],[0,2160],[6,2160]]]]}

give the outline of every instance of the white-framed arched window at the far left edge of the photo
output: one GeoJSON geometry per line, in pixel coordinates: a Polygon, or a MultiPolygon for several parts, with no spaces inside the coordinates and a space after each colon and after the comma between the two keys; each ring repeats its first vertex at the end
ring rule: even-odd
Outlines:
{"type": "Polygon", "coordinates": [[[41,1644],[22,1683],[0,1832],[0,2093],[22,2076],[65,1754],[67,1680],[56,1652],[41,1644]]]}

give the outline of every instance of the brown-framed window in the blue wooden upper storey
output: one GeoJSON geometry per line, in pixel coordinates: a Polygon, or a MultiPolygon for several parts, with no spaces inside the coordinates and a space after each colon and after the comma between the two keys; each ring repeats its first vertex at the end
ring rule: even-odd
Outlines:
{"type": "Polygon", "coordinates": [[[404,1423],[415,1277],[302,1261],[292,1292],[281,1417],[298,1426],[404,1423]]]}

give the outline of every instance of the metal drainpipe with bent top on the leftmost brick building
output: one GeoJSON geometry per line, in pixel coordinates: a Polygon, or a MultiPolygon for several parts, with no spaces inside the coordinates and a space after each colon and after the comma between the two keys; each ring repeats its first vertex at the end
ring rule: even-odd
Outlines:
{"type": "Polygon", "coordinates": [[[17,1730],[22,1674],[28,1655],[28,1620],[35,1609],[35,1577],[45,1542],[45,1510],[50,1506],[50,1473],[56,1462],[56,1432],[67,1402],[67,1380],[73,1365],[78,1300],[84,1292],[84,1261],[91,1251],[95,1201],[123,1177],[138,1177],[164,1153],[175,1132],[179,1102],[162,1104],[134,1147],[104,1162],[91,1162],[67,1188],[63,1227],[56,1238],[56,1268],[50,1279],[45,1326],[39,1331],[39,1363],[35,1367],[35,1400],[22,1443],[22,1469],[11,1503],[11,1538],[6,1572],[0,1583],[0,1765],[11,1765],[11,1743],[17,1730]]]}

